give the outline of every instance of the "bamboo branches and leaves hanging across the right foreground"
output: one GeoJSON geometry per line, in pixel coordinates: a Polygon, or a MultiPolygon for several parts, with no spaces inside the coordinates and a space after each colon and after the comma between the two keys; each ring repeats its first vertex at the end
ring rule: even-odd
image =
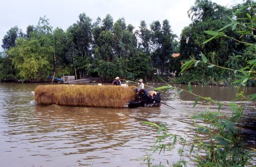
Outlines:
{"type": "MultiPolygon", "coordinates": [[[[208,1],[196,1],[196,4],[203,4],[203,7],[205,6],[208,1]]],[[[246,5],[245,7],[240,8],[238,13],[241,13],[243,10],[249,8],[248,10],[253,11],[253,7],[255,4],[246,5]]],[[[200,19],[206,19],[207,14],[210,11],[203,11],[202,13],[197,13],[197,8],[193,8],[194,10],[194,16],[196,17],[197,21],[200,19]],[[205,13],[206,12],[206,13],[205,13]]],[[[200,8],[199,8],[200,9],[200,8]]],[[[204,8],[203,8],[204,9],[204,8]]],[[[246,16],[251,19],[251,15],[246,16]]],[[[253,16],[255,17],[255,16],[253,16]]],[[[183,162],[182,157],[184,147],[187,147],[189,149],[189,153],[193,153],[195,155],[194,161],[196,161],[198,166],[247,166],[247,165],[254,165],[253,158],[255,157],[255,149],[250,148],[250,146],[246,145],[244,138],[242,137],[242,126],[241,126],[241,120],[244,116],[245,109],[247,107],[244,106],[243,101],[244,100],[255,100],[256,95],[247,95],[245,96],[245,90],[246,90],[246,83],[248,80],[255,80],[256,79],[256,72],[255,72],[255,44],[249,43],[246,41],[240,41],[240,39],[235,39],[233,37],[229,37],[227,35],[224,35],[223,31],[228,26],[232,26],[231,31],[239,29],[239,25],[242,25],[245,27],[245,29],[250,29],[250,34],[247,32],[238,32],[242,36],[247,36],[247,39],[250,38],[250,36],[253,36],[254,29],[252,27],[255,27],[255,20],[251,20],[251,22],[244,21],[243,19],[237,18],[237,20],[231,19],[231,23],[229,23],[227,26],[224,26],[217,32],[213,31],[207,31],[206,33],[209,35],[214,36],[214,38],[210,38],[209,40],[205,40],[205,43],[211,42],[215,39],[218,39],[220,37],[225,37],[228,39],[235,40],[239,43],[246,44],[246,49],[243,51],[242,54],[248,55],[246,58],[243,58],[246,63],[243,63],[241,65],[241,68],[239,69],[230,69],[226,67],[221,67],[219,65],[212,64],[209,62],[210,57],[206,57],[201,52],[201,60],[196,60],[195,58],[191,58],[190,60],[186,61],[182,65],[181,72],[185,72],[186,70],[190,68],[196,68],[196,70],[200,70],[201,73],[203,72],[203,75],[208,70],[215,70],[215,69],[222,69],[222,74],[225,71],[231,71],[234,76],[237,77],[235,81],[233,81],[233,84],[238,84],[238,93],[237,93],[237,99],[240,100],[240,103],[234,103],[230,102],[229,104],[221,103],[219,101],[212,100],[210,97],[201,97],[199,95],[195,95],[192,93],[192,88],[190,81],[188,80],[188,91],[186,90],[180,90],[177,94],[180,94],[182,91],[185,91],[187,93],[190,93],[192,95],[197,96],[197,99],[193,105],[195,107],[197,105],[197,102],[200,98],[206,100],[209,105],[212,105],[213,103],[218,105],[218,112],[210,112],[210,110],[207,109],[204,112],[200,112],[200,114],[194,115],[193,117],[189,118],[193,122],[195,126],[195,131],[197,132],[194,139],[192,141],[186,141],[182,137],[176,136],[179,143],[181,143],[182,147],[178,149],[178,154],[180,155],[180,160],[178,160],[176,163],[174,163],[175,166],[186,166],[186,163],[183,162]],[[252,47],[253,46],[253,47],[252,47]],[[248,59],[247,59],[248,58],[248,59]],[[243,86],[244,88],[240,88],[240,86],[243,86]],[[229,105],[231,116],[225,116],[220,112],[222,105],[229,105]],[[205,140],[205,138],[208,138],[208,140],[205,140]],[[196,149],[197,148],[197,149],[196,149]],[[251,151],[252,150],[252,151],[251,151]],[[252,158],[253,157],[253,158],[252,158]]],[[[241,37],[242,37],[241,36],[241,37]]],[[[254,40],[255,41],[255,40],[254,40]]],[[[253,41],[252,41],[253,42],[253,41]]],[[[239,58],[239,56],[236,56],[236,58],[239,58]]],[[[195,69],[193,69],[195,71],[195,69]]],[[[190,71],[191,74],[191,71],[190,71]]],[[[197,75],[197,73],[195,73],[197,75]]],[[[202,74],[201,74],[202,75],[202,74]]],[[[206,75],[207,76],[207,75],[206,75]]],[[[167,86],[165,88],[168,88],[167,86]]],[[[158,89],[162,89],[161,87],[158,89]]],[[[178,89],[178,88],[177,88],[178,89]]],[[[253,102],[253,101],[252,101],[253,102]]],[[[255,104],[254,104],[255,105],[255,104]]],[[[155,128],[157,128],[157,133],[161,133],[159,137],[157,137],[156,142],[154,143],[153,147],[156,148],[153,152],[159,151],[159,153],[162,150],[165,150],[166,144],[171,142],[172,139],[168,138],[169,136],[173,136],[172,134],[168,135],[168,130],[165,126],[163,126],[161,123],[160,125],[156,123],[147,123],[148,125],[153,125],[155,128]],[[163,128],[164,127],[164,128],[163,128]],[[156,145],[156,143],[159,143],[159,145],[156,145]]],[[[169,149],[172,149],[171,147],[169,149]]]]}

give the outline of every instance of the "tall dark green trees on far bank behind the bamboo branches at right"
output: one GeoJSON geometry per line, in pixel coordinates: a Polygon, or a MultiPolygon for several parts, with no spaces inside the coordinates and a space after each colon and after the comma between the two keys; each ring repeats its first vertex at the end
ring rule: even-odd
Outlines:
{"type": "MultiPolygon", "coordinates": [[[[193,22],[185,27],[181,33],[180,58],[182,60],[190,57],[198,59],[201,52],[203,52],[207,54],[209,62],[224,67],[229,66],[230,64],[227,63],[230,63],[229,59],[233,59],[234,54],[240,54],[245,49],[242,43],[235,40],[225,40],[224,38],[214,38],[207,43],[202,43],[202,41],[206,41],[211,37],[211,31],[220,30],[226,22],[232,20],[232,18],[228,17],[231,14],[231,9],[211,1],[196,1],[195,5],[188,11],[188,15],[193,22]],[[209,33],[205,34],[205,31],[209,33]]],[[[231,29],[232,27],[228,27],[223,30],[227,36],[241,38],[243,41],[247,40],[248,37],[240,37],[238,33],[233,32],[231,29]]],[[[197,69],[191,69],[184,71],[179,80],[187,82],[189,77],[193,77],[195,82],[201,84],[227,84],[233,78],[229,72],[223,73],[220,69],[204,70],[203,75],[200,74],[200,76],[197,76],[197,74],[202,70],[201,66],[197,69]],[[197,79],[199,80],[196,81],[197,79]]]]}

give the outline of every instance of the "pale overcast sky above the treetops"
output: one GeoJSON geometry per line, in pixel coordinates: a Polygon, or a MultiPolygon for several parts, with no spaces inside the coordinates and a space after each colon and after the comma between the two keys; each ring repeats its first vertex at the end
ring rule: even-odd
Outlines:
{"type": "MultiPolygon", "coordinates": [[[[242,0],[212,2],[230,7],[242,0]]],[[[15,25],[25,33],[28,25],[37,25],[39,17],[46,16],[54,29],[66,30],[81,13],[86,13],[92,22],[97,17],[105,18],[106,14],[110,14],[114,22],[123,17],[126,25],[135,27],[141,20],[149,25],[167,19],[173,33],[179,37],[183,27],[191,23],[187,11],[194,3],[195,0],[0,0],[0,45],[4,35],[15,25]]]]}

